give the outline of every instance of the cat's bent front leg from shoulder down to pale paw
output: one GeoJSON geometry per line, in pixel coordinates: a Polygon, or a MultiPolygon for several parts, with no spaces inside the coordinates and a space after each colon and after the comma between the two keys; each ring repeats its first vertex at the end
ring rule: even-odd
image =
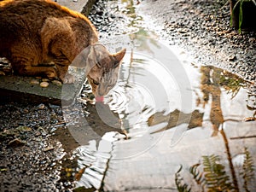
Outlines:
{"type": "Polygon", "coordinates": [[[50,17],[45,20],[40,35],[44,52],[55,58],[54,62],[59,79],[63,84],[73,83],[73,76],[67,71],[68,66],[77,55],[77,45],[69,21],[50,17]]]}

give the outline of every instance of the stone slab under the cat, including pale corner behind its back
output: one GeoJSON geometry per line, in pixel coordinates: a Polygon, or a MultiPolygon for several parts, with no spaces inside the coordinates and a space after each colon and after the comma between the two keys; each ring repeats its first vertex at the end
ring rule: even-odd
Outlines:
{"type": "MultiPolygon", "coordinates": [[[[88,15],[95,0],[57,0],[57,3],[62,6],[81,12],[88,15]]],[[[84,79],[83,76],[78,79],[84,79]]],[[[39,84],[30,84],[32,77],[20,76],[0,76],[0,97],[1,102],[25,102],[25,103],[41,103],[49,102],[52,104],[71,104],[73,103],[78,91],[83,84],[65,84],[56,85],[49,83],[46,88],[41,87],[39,84]],[[64,91],[63,91],[64,86],[64,91]]]]}

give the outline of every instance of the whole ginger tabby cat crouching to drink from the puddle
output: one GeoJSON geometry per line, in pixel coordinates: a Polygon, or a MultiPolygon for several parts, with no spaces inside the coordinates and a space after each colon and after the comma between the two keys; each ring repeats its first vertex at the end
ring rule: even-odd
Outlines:
{"type": "Polygon", "coordinates": [[[87,49],[86,60],[79,66],[90,69],[86,74],[93,93],[105,95],[117,81],[125,49],[111,55],[97,42],[96,29],[88,18],[55,2],[0,1],[0,57],[6,57],[17,74],[73,83],[68,67],[87,49]]]}

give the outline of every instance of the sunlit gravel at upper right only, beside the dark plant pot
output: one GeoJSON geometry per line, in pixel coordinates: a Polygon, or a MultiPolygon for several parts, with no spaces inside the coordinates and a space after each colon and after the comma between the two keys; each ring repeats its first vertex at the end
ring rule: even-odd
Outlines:
{"type": "Polygon", "coordinates": [[[145,15],[149,30],[181,46],[198,63],[223,67],[255,81],[255,32],[240,34],[230,26],[227,1],[147,0],[139,12],[145,15]]]}

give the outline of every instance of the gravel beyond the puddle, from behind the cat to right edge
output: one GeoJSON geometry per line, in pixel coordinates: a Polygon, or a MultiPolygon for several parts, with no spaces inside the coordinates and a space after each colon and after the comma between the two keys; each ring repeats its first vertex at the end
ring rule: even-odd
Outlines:
{"type": "Polygon", "coordinates": [[[230,26],[227,1],[144,0],[134,1],[130,9],[116,2],[97,1],[90,14],[101,38],[143,27],[178,45],[199,64],[222,67],[255,81],[255,32],[240,34],[230,26]],[[134,8],[136,13],[132,12],[134,8]]]}

